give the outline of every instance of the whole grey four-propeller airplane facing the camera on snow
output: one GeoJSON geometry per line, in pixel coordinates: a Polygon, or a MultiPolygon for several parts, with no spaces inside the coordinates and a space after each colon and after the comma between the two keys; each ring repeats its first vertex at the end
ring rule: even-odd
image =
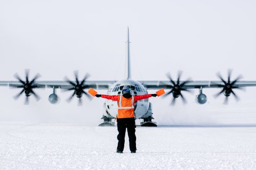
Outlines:
{"type": "MultiPolygon", "coordinates": [[[[224,80],[221,74],[218,72],[217,76],[220,81],[191,81],[187,79],[181,81],[182,72],[178,72],[178,79],[174,81],[170,75],[167,73],[168,81],[135,81],[131,78],[131,56],[130,56],[130,35],[129,28],[127,29],[127,41],[126,41],[127,53],[125,57],[125,78],[120,81],[87,81],[90,75],[87,73],[82,81],[78,80],[78,72],[75,71],[75,81],[69,80],[65,77],[65,81],[37,81],[40,77],[36,74],[35,77],[29,80],[29,71],[25,71],[26,80],[22,80],[17,73],[14,77],[18,81],[0,81],[0,86],[9,86],[10,88],[21,88],[21,91],[14,96],[14,99],[18,99],[22,94],[25,94],[26,100],[25,104],[29,103],[29,97],[34,96],[38,101],[40,97],[36,94],[36,88],[52,88],[53,93],[49,95],[49,102],[51,104],[57,104],[60,100],[59,96],[56,94],[55,89],[60,88],[64,91],[73,91],[73,94],[67,99],[69,102],[74,96],[78,98],[78,105],[82,105],[83,95],[92,99],[92,96],[86,92],[86,89],[93,88],[95,90],[108,90],[107,95],[121,95],[122,88],[124,86],[129,86],[132,95],[145,95],[148,94],[147,90],[159,90],[166,89],[164,97],[172,95],[171,105],[175,104],[177,98],[181,98],[183,103],[186,104],[187,100],[182,95],[183,91],[191,92],[191,89],[198,89],[199,94],[196,95],[195,100],[197,104],[203,105],[207,101],[207,96],[203,94],[204,88],[221,88],[218,94],[214,97],[219,97],[223,94],[226,98],[224,104],[228,103],[228,98],[233,95],[238,101],[239,97],[235,94],[234,89],[244,89],[245,87],[255,87],[256,81],[240,81],[242,75],[239,75],[235,80],[231,81],[231,70],[228,70],[228,80],[224,80]]],[[[117,116],[117,101],[105,100],[103,103],[103,113],[101,119],[103,122],[99,126],[114,126],[115,118],[117,116]]],[[[156,122],[153,122],[153,111],[152,104],[149,99],[139,100],[134,106],[134,115],[136,119],[143,120],[140,126],[157,126],[156,122]]]]}

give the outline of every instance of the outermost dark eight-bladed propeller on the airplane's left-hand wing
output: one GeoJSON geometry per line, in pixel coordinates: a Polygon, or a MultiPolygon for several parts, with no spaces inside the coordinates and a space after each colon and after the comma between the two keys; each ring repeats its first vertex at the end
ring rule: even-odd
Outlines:
{"type": "Polygon", "coordinates": [[[22,88],[22,90],[15,96],[13,96],[13,98],[15,100],[17,100],[23,93],[25,94],[26,96],[26,99],[25,99],[25,105],[28,105],[29,104],[29,96],[33,95],[36,100],[40,100],[40,97],[35,93],[35,91],[33,90],[34,88],[42,88],[44,86],[39,86],[38,84],[35,84],[35,80],[37,80],[39,77],[41,77],[41,75],[39,73],[37,73],[34,77],[34,79],[32,79],[31,81],[29,81],[29,70],[26,69],[25,70],[25,76],[26,76],[26,80],[23,81],[18,73],[15,73],[14,74],[14,77],[16,79],[19,80],[19,82],[21,84],[10,84],[10,87],[14,87],[14,88],[22,88]]]}

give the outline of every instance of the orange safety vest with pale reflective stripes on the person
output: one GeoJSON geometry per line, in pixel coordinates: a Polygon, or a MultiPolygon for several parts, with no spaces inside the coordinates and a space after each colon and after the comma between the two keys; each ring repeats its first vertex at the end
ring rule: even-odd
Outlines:
{"type": "Polygon", "coordinates": [[[119,95],[117,118],[134,117],[134,96],[129,99],[119,95]]]}

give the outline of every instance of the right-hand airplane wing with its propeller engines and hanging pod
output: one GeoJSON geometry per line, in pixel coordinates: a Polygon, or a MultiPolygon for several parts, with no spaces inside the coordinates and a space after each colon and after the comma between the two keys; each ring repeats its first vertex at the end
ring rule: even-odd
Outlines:
{"type": "Polygon", "coordinates": [[[175,100],[180,96],[183,103],[187,103],[187,100],[182,95],[181,91],[191,92],[190,89],[200,89],[199,95],[196,96],[196,103],[205,104],[207,101],[207,97],[203,94],[203,88],[220,88],[221,90],[214,95],[214,97],[218,97],[221,94],[225,95],[225,101],[223,104],[228,103],[228,97],[232,94],[235,99],[238,101],[239,97],[233,91],[233,89],[244,89],[245,87],[255,87],[256,81],[238,81],[237,79],[234,81],[221,80],[221,81],[141,81],[143,86],[146,89],[169,89],[170,91],[164,94],[164,96],[172,94],[172,102],[171,105],[175,104],[175,100]]]}

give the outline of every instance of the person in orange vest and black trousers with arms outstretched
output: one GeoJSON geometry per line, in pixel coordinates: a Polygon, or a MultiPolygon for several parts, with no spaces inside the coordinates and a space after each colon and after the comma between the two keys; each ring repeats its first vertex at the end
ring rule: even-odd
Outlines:
{"type": "Polygon", "coordinates": [[[124,86],[122,95],[109,96],[109,95],[95,95],[96,97],[102,97],[109,100],[118,101],[118,113],[117,113],[117,135],[118,145],[117,153],[123,153],[124,150],[124,138],[127,128],[129,136],[129,144],[131,153],[136,153],[136,136],[135,136],[135,118],[134,118],[134,103],[135,101],[147,99],[151,96],[156,97],[156,94],[132,96],[129,86],[124,86]]]}

